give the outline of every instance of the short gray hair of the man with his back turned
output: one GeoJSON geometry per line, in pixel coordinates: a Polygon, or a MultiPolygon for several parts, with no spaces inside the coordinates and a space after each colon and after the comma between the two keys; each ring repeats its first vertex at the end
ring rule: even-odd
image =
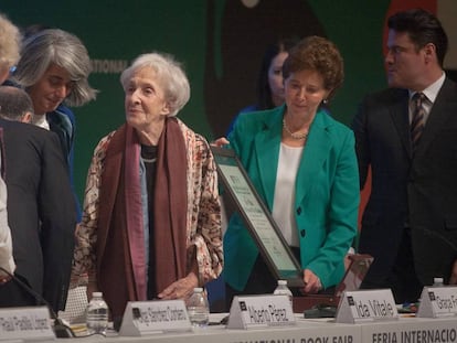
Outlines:
{"type": "Polygon", "coordinates": [[[26,114],[33,115],[33,103],[25,90],[0,86],[0,117],[21,121],[26,114]]]}

